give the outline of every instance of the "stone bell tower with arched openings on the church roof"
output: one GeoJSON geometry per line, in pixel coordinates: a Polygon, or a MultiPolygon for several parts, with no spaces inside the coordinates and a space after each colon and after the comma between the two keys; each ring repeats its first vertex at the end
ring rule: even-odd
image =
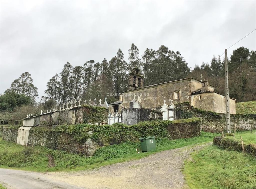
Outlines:
{"type": "Polygon", "coordinates": [[[143,81],[144,78],[141,75],[140,69],[133,68],[132,72],[129,73],[128,90],[143,87],[143,81]]]}

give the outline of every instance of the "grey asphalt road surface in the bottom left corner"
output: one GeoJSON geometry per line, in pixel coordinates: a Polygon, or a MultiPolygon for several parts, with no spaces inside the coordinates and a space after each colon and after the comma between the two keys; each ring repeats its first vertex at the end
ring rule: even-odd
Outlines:
{"type": "Polygon", "coordinates": [[[8,189],[81,188],[62,181],[48,179],[45,173],[0,169],[0,182],[8,189]]]}

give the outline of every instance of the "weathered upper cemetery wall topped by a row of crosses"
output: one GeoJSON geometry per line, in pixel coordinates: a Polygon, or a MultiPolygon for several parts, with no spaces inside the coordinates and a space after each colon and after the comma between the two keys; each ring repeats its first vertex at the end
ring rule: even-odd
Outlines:
{"type": "Polygon", "coordinates": [[[108,109],[95,106],[80,106],[72,109],[54,111],[38,116],[25,118],[24,126],[34,126],[39,123],[46,124],[77,124],[77,123],[95,123],[108,122],[108,109]]]}

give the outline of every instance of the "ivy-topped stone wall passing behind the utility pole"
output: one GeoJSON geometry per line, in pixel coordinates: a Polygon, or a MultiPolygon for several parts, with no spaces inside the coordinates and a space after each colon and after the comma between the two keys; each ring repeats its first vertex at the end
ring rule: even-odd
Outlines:
{"type": "MultiPolygon", "coordinates": [[[[206,132],[221,132],[226,130],[226,114],[220,114],[213,111],[202,110],[190,106],[189,103],[175,104],[177,119],[200,117],[201,130],[206,132]]],[[[236,124],[237,131],[256,129],[255,114],[231,114],[231,131],[234,131],[236,124]]]]}

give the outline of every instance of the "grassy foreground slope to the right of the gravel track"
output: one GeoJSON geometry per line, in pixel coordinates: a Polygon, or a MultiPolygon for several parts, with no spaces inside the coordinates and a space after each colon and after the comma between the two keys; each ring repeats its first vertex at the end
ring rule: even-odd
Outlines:
{"type": "Polygon", "coordinates": [[[185,161],[190,188],[256,188],[255,157],[208,146],[185,161]]]}

